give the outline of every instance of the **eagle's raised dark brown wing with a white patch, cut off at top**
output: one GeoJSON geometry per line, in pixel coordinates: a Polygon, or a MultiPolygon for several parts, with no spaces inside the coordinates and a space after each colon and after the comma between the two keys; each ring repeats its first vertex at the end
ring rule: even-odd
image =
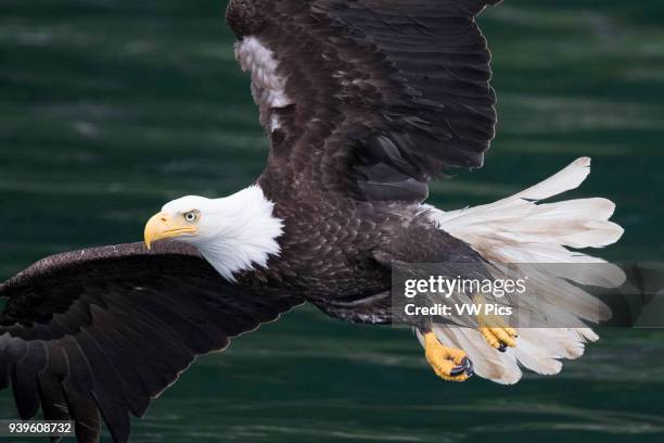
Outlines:
{"type": "Polygon", "coordinates": [[[482,166],[496,113],[475,16],[498,2],[232,0],[271,138],[261,185],[421,201],[444,167],[482,166]]]}

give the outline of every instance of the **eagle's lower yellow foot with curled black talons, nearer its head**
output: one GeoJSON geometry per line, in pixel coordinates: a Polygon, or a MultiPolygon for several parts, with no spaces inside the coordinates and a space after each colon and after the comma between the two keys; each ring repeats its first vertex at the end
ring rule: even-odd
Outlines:
{"type": "Polygon", "coordinates": [[[432,331],[424,332],[424,356],[436,376],[448,381],[465,381],[473,372],[473,364],[465,353],[440,344],[432,331]]]}

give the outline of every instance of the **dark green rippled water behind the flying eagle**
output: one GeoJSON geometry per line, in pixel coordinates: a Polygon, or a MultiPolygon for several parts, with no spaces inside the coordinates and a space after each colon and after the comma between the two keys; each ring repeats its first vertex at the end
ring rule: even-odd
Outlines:
{"type": "MultiPolygon", "coordinates": [[[[140,240],[164,202],[259,174],[267,142],[225,7],[2,0],[0,279],[48,254],[140,240]]],[[[661,261],[663,17],[657,0],[486,11],[498,137],[485,168],[435,183],[431,202],[489,202],[590,155],[574,195],[611,198],[626,229],[602,255],[661,261]]],[[[133,441],[664,441],[664,333],[602,336],[557,377],[451,384],[406,330],[298,308],[201,358],[135,421],[133,441]]],[[[0,417],[15,417],[9,391],[0,417]]]]}

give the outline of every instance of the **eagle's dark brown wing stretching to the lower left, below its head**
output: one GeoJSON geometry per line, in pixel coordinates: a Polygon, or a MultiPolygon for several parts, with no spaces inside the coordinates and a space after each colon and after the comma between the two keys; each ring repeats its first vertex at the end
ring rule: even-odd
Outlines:
{"type": "Polygon", "coordinates": [[[81,442],[101,418],[116,442],[200,354],[299,303],[239,290],[178,243],[48,257],[0,286],[0,388],[22,419],[73,419],[81,442]]]}

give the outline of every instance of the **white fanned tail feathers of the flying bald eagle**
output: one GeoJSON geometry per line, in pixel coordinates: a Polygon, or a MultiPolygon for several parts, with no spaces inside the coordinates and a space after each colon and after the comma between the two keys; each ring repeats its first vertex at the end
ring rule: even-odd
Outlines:
{"type": "MultiPolygon", "coordinates": [[[[423,210],[440,229],[496,263],[605,263],[567,248],[602,248],[621,238],[623,229],[609,221],[615,208],[611,201],[536,203],[577,188],[589,173],[590,159],[583,157],[540,183],[495,203],[451,212],[430,205],[423,210]]],[[[565,278],[583,284],[618,286],[625,279],[617,266],[609,264],[597,271],[592,267],[573,271],[573,266],[566,267],[565,278]]],[[[542,286],[542,299],[579,318],[598,320],[609,315],[597,300],[572,288],[567,291],[542,286]]],[[[558,374],[562,368],[558,358],[577,358],[587,341],[599,339],[589,328],[522,328],[518,330],[518,346],[500,353],[474,329],[438,325],[434,332],[443,343],[464,350],[478,376],[505,384],[521,379],[519,365],[539,374],[558,374]]]]}

